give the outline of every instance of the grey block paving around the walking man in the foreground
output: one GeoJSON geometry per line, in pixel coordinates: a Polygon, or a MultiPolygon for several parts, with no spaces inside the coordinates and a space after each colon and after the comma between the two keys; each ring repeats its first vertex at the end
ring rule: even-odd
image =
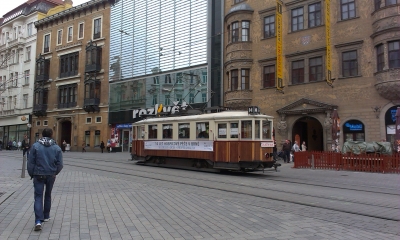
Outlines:
{"type": "MultiPolygon", "coordinates": [[[[65,153],[64,158],[122,161],[128,160],[129,154],[65,153]]],[[[150,180],[129,181],[116,174],[69,166],[54,185],[52,220],[35,232],[32,181],[27,173],[20,178],[21,166],[21,152],[0,152],[0,192],[4,193],[0,196],[1,240],[399,239],[398,235],[347,228],[150,180]]],[[[282,171],[294,174],[291,166],[285,164],[282,171]]]]}

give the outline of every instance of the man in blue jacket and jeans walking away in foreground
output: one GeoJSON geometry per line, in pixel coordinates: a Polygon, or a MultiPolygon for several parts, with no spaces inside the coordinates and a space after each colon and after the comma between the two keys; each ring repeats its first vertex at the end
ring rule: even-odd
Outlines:
{"type": "Polygon", "coordinates": [[[35,190],[35,231],[42,230],[42,222],[50,220],[51,190],[56,175],[63,168],[61,148],[52,139],[53,130],[45,128],[42,138],[32,145],[28,156],[28,174],[35,190]],[[46,186],[43,206],[43,191],[46,186]]]}

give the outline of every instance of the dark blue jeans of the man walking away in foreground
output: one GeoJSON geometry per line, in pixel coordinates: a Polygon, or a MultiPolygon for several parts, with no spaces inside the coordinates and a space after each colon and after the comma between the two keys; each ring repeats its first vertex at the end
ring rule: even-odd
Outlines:
{"type": "Polygon", "coordinates": [[[53,190],[55,176],[33,176],[33,188],[35,189],[35,204],[33,209],[35,211],[35,222],[43,221],[50,217],[51,208],[51,191],[53,190]],[[43,192],[46,186],[43,202],[43,192]]]}

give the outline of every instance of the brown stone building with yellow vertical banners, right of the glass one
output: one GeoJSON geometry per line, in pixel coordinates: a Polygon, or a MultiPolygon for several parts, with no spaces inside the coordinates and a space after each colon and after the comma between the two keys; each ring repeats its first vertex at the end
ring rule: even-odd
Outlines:
{"type": "Polygon", "coordinates": [[[258,105],[274,116],[278,149],[290,139],[305,141],[309,150],[330,150],[333,109],[341,145],[393,141],[400,105],[400,2],[284,0],[281,6],[279,64],[276,1],[225,0],[225,106],[258,105]],[[326,81],[329,61],[333,87],[326,81]],[[280,68],[283,91],[276,87],[280,68]]]}

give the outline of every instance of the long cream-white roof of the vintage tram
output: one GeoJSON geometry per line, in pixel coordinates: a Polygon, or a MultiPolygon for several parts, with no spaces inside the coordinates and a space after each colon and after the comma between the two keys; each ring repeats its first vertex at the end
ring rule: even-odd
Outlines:
{"type": "Polygon", "coordinates": [[[199,115],[190,115],[190,116],[176,116],[176,117],[161,117],[161,118],[149,118],[138,121],[133,125],[143,124],[143,123],[154,123],[154,122],[171,122],[171,121],[196,121],[196,120],[222,120],[222,119],[242,119],[242,118],[269,118],[273,119],[274,117],[265,115],[265,114],[257,114],[251,115],[248,114],[247,111],[223,111],[218,113],[204,113],[199,115]]]}

